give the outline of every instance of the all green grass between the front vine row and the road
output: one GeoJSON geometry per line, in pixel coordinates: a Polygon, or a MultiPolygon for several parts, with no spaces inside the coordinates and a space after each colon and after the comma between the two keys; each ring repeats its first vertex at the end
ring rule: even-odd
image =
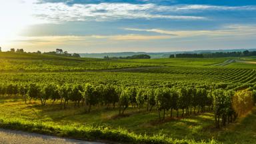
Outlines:
{"type": "Polygon", "coordinates": [[[61,137],[129,143],[146,143],[145,139],[158,139],[163,143],[163,136],[165,140],[177,143],[200,143],[211,139],[217,139],[220,143],[249,143],[255,140],[256,110],[237,123],[219,130],[214,128],[213,113],[201,113],[185,119],[169,119],[167,115],[167,119],[159,123],[157,111],[128,109],[127,117],[116,117],[118,109],[102,107],[93,107],[91,113],[84,113],[83,107],[73,108],[72,104],[67,109],[60,109],[59,104],[52,105],[51,102],[46,107],[42,107],[39,101],[25,104],[19,99],[1,99],[0,103],[1,127],[61,137]],[[99,137],[95,137],[95,133],[100,133],[99,137]],[[103,133],[110,133],[111,136],[106,137],[103,133]]]}

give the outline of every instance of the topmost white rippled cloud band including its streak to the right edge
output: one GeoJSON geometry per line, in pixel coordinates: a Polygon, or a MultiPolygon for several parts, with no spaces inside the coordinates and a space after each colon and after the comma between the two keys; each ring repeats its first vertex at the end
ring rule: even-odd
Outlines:
{"type": "Polygon", "coordinates": [[[33,15],[46,22],[113,21],[118,19],[181,19],[205,20],[202,11],[256,11],[255,5],[157,5],[155,3],[34,3],[33,15]]]}

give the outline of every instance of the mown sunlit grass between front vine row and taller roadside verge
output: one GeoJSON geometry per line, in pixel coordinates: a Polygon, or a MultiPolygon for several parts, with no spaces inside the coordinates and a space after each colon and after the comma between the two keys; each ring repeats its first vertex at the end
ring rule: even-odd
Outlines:
{"type": "MultiPolygon", "coordinates": [[[[176,113],[175,113],[176,114],[176,113]]],[[[20,99],[1,99],[1,119],[15,119],[59,127],[108,127],[109,129],[123,129],[137,135],[165,135],[173,139],[191,140],[198,143],[202,140],[216,139],[218,143],[253,143],[256,141],[256,109],[247,117],[236,123],[215,129],[213,113],[199,113],[185,119],[169,119],[159,123],[157,111],[138,112],[129,109],[125,117],[118,117],[118,109],[107,110],[94,107],[92,113],[84,113],[83,107],[69,107],[60,109],[56,103],[42,107],[39,101],[25,104],[20,99]]],[[[13,127],[17,129],[17,127],[13,127]]],[[[19,129],[19,128],[18,128],[19,129]]],[[[42,133],[42,131],[37,131],[42,133]]],[[[44,133],[44,132],[43,132],[44,133]]],[[[51,133],[50,133],[51,134],[51,133]]]]}

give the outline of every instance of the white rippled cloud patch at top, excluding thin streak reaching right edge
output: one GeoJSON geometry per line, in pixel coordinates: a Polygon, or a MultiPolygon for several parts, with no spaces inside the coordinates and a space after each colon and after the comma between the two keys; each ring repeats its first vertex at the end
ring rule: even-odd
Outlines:
{"type": "MultiPolygon", "coordinates": [[[[193,15],[160,14],[167,7],[155,4],[135,5],[129,3],[75,4],[37,3],[33,14],[48,22],[60,21],[111,21],[115,19],[206,19],[193,15]]],[[[168,10],[169,11],[169,10],[168,10]]]]}

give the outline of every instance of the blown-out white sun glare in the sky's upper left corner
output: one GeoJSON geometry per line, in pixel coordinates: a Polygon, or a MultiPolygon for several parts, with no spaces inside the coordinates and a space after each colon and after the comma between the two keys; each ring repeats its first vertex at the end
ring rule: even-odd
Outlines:
{"type": "Polygon", "coordinates": [[[0,1],[0,45],[15,39],[27,25],[33,24],[31,7],[33,0],[0,1]]]}

